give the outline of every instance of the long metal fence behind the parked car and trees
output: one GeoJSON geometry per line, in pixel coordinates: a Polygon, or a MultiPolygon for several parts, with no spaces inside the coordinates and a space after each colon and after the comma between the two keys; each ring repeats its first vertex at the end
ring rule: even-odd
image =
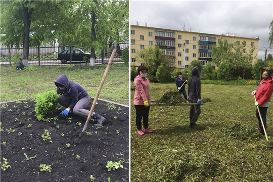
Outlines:
{"type": "MultiPolygon", "coordinates": [[[[111,44],[108,46],[107,50],[97,49],[96,51],[96,60],[95,64],[107,64],[113,50],[116,50],[115,57],[113,59],[113,63],[123,63],[122,61],[122,53],[126,47],[129,46],[129,43],[119,43],[119,44],[111,44]]],[[[29,48],[29,57],[28,57],[28,65],[29,66],[40,66],[40,65],[61,65],[61,60],[58,60],[58,54],[61,53],[64,49],[70,49],[70,47],[40,47],[38,48],[29,48]]],[[[90,53],[91,49],[88,48],[78,48],[72,47],[72,49],[81,49],[84,53],[90,53]]],[[[23,48],[17,50],[16,48],[5,48],[2,47],[0,49],[1,57],[0,57],[0,65],[2,66],[10,66],[13,61],[17,61],[16,55],[21,55],[23,57],[23,48]]],[[[18,57],[17,57],[18,58],[18,57]]],[[[89,60],[88,60],[89,61],[89,60]]],[[[77,60],[67,61],[66,64],[86,64],[85,61],[77,60]]],[[[88,64],[88,62],[87,62],[88,64]]]]}

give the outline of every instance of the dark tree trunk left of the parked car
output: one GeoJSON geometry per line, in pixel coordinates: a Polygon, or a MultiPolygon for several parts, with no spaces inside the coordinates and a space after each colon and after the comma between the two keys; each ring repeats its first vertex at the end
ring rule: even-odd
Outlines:
{"type": "MultiPolygon", "coordinates": [[[[31,0],[30,3],[33,3],[31,0]]],[[[27,4],[29,1],[24,2],[23,13],[24,13],[24,41],[23,41],[23,63],[24,66],[28,66],[28,56],[29,56],[29,33],[30,33],[30,23],[33,9],[28,9],[27,4]]]]}

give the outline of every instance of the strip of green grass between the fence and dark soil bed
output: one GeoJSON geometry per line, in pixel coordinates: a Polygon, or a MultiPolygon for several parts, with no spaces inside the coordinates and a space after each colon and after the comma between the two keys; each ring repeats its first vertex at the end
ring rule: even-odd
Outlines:
{"type": "MultiPolygon", "coordinates": [[[[30,66],[26,70],[1,66],[0,102],[34,98],[37,93],[56,90],[54,82],[61,74],[66,74],[70,81],[80,84],[95,97],[107,65],[58,65],[30,66]]],[[[112,64],[99,98],[129,105],[128,75],[129,69],[123,64],[112,64]]]]}

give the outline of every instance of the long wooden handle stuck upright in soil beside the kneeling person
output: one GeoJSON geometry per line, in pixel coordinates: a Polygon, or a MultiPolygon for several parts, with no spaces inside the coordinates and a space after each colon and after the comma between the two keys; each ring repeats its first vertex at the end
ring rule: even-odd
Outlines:
{"type": "Polygon", "coordinates": [[[111,57],[110,57],[110,60],[109,60],[109,62],[108,62],[108,64],[107,64],[107,67],[106,67],[106,69],[105,69],[105,71],[104,71],[104,74],[103,74],[103,78],[102,78],[101,84],[100,84],[100,86],[99,86],[99,88],[98,88],[98,92],[97,92],[97,94],[96,94],[96,97],[95,97],[95,99],[94,99],[94,101],[93,101],[92,107],[91,107],[91,109],[90,109],[90,111],[89,111],[88,117],[87,117],[86,122],[85,122],[85,124],[84,124],[84,127],[83,127],[83,129],[82,129],[82,132],[83,132],[83,133],[84,133],[85,129],[87,128],[88,124],[89,124],[91,115],[92,115],[92,113],[93,113],[93,111],[94,111],[94,108],[95,108],[95,106],[96,106],[96,103],[97,103],[97,101],[98,101],[99,95],[100,95],[101,90],[102,90],[103,83],[104,83],[105,78],[106,78],[106,75],[107,75],[107,73],[108,73],[108,71],[109,71],[109,69],[110,69],[110,66],[111,66],[111,64],[112,64],[112,61],[113,61],[113,58],[114,58],[115,54],[116,54],[116,50],[113,50],[113,52],[112,52],[112,54],[111,54],[111,57]]]}

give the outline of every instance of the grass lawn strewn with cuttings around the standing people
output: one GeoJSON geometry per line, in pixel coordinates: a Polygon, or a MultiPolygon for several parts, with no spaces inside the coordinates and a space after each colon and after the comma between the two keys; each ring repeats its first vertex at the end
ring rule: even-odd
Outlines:
{"type": "MultiPolygon", "coordinates": [[[[130,87],[133,87],[132,82],[130,87]]],[[[198,129],[190,129],[189,106],[150,108],[149,128],[135,126],[131,91],[131,181],[273,181],[273,149],[258,126],[251,92],[255,85],[202,84],[198,129]]],[[[175,83],[151,83],[151,100],[175,90],[175,83]]],[[[186,85],[186,90],[188,89],[186,85]]],[[[267,110],[267,135],[273,145],[273,106],[267,110]]]]}

